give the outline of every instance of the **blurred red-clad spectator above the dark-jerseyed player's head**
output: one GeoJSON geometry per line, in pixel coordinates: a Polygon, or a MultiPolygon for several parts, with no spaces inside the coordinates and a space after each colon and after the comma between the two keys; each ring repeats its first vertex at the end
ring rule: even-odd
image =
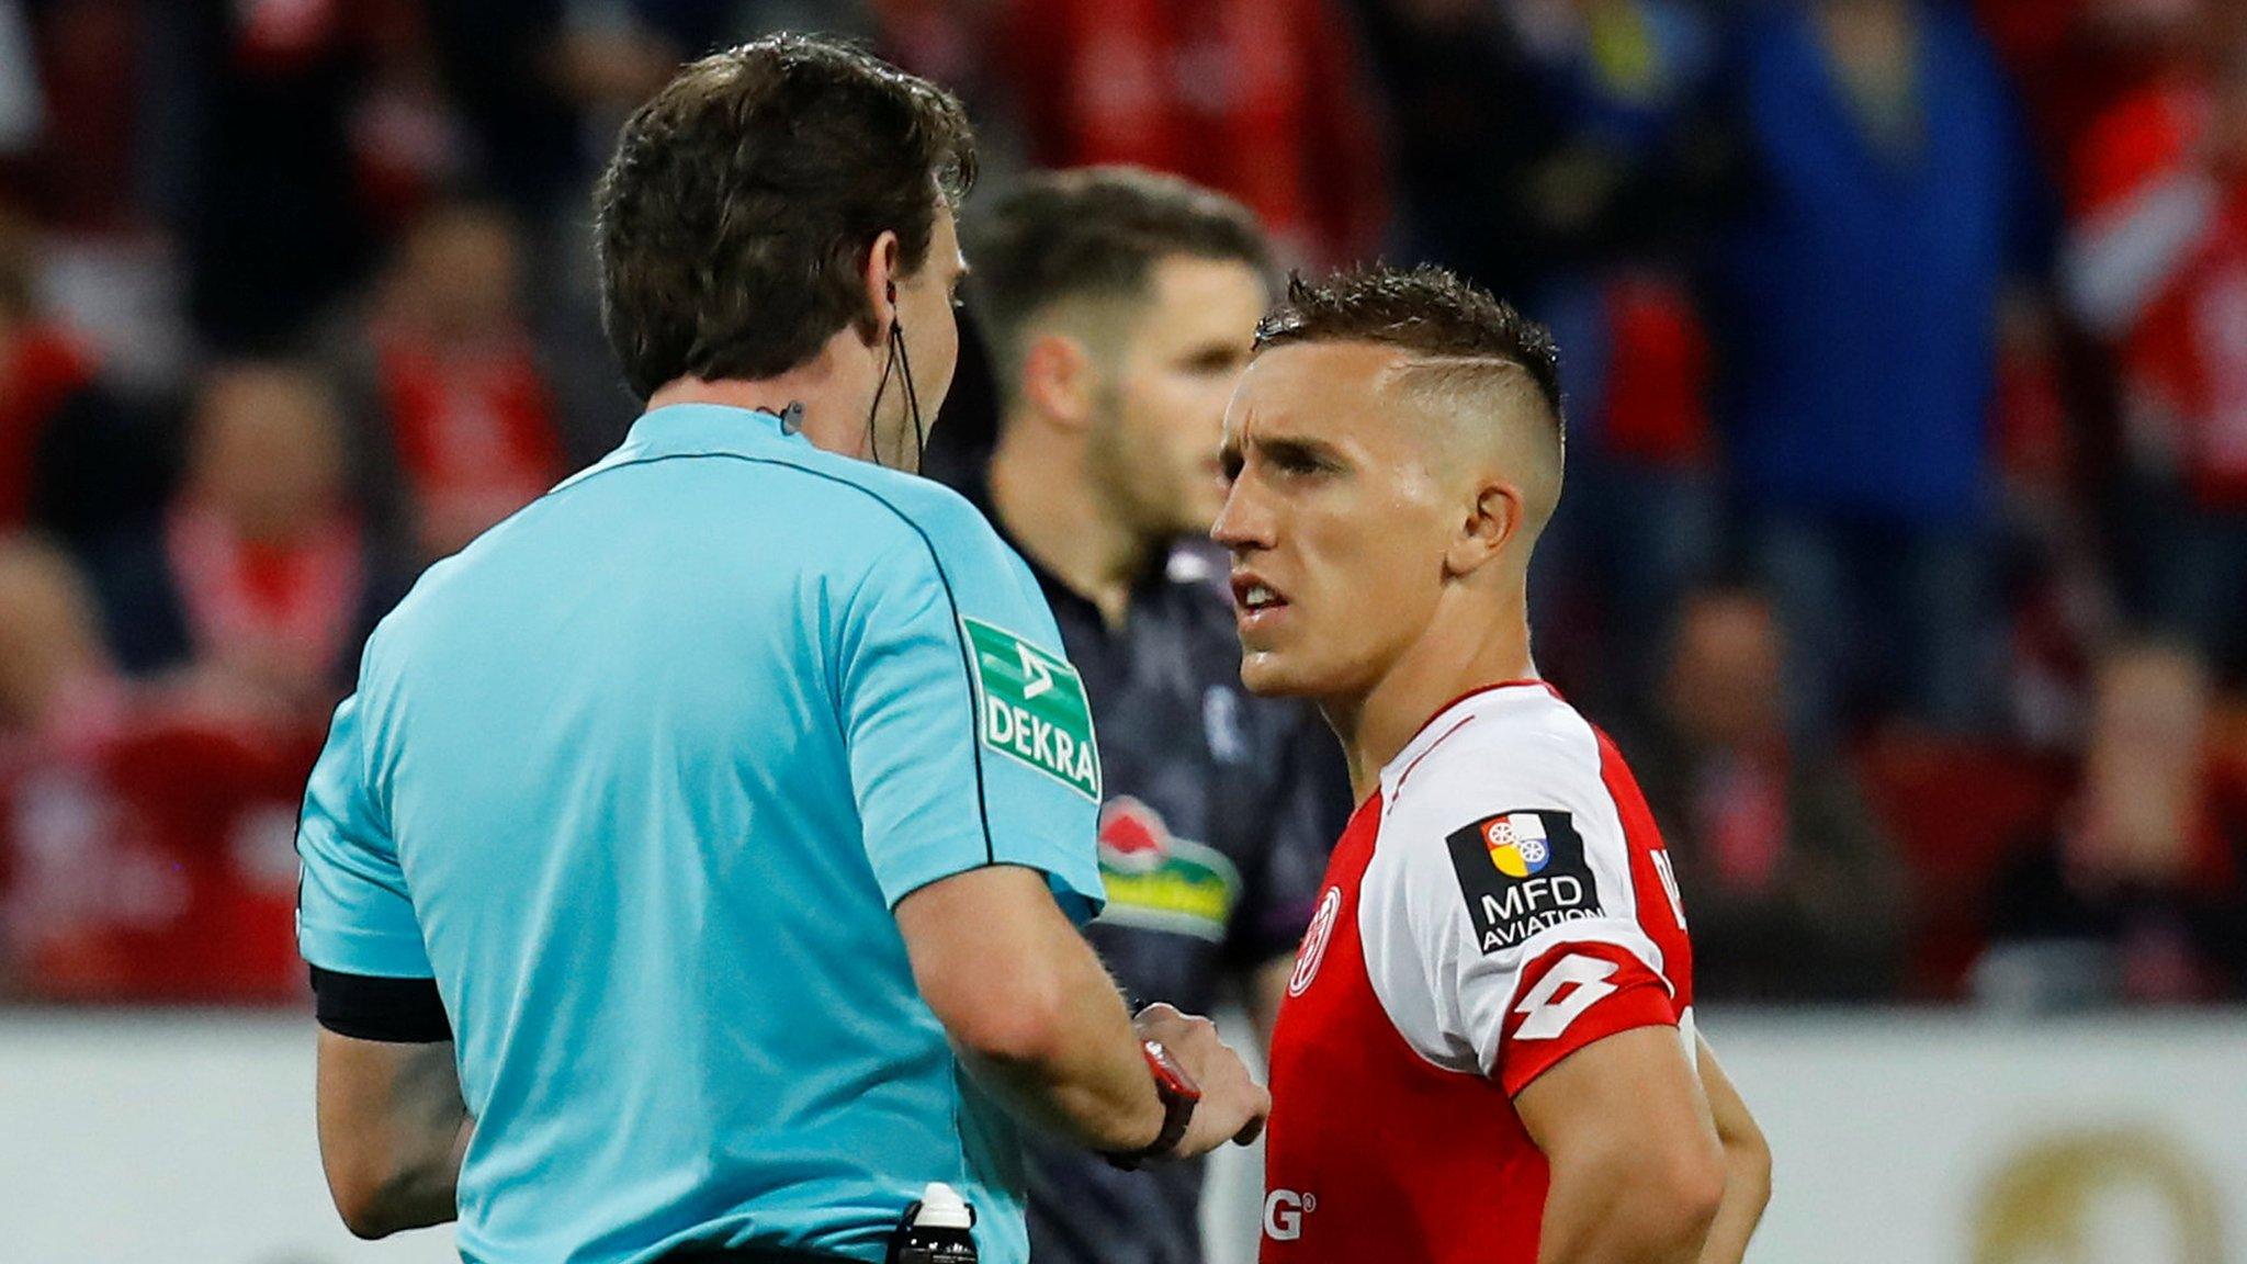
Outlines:
{"type": "Polygon", "coordinates": [[[1380,130],[1332,0],[1009,0],[995,38],[1038,166],[1184,175],[1317,265],[1380,250],[1380,130]]]}

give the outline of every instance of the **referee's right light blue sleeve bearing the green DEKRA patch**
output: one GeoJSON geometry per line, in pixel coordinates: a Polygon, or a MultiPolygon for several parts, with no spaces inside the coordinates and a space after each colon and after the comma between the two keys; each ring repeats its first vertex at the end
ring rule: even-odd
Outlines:
{"type": "Polygon", "coordinates": [[[982,515],[955,499],[908,520],[840,610],[836,652],[852,792],[890,906],[1018,864],[1043,870],[1074,920],[1097,915],[1099,756],[1081,749],[1083,686],[1036,580],[982,515]],[[986,722],[986,704],[1004,720],[986,722]]]}

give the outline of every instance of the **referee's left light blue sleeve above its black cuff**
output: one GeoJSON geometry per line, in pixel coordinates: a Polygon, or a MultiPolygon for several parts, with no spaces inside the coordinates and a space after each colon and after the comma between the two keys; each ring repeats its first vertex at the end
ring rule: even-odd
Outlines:
{"type": "Polygon", "coordinates": [[[369,785],[362,695],[335,708],[297,821],[297,947],[326,972],[429,978],[413,900],[369,785]]]}

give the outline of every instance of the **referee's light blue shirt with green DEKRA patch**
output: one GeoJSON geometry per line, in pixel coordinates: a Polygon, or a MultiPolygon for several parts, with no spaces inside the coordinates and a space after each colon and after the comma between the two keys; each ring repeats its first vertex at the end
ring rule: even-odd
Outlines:
{"type": "Polygon", "coordinates": [[[1013,1129],[892,906],[1020,864],[1097,911],[1061,654],[964,499],[728,407],[649,412],[429,569],[312,771],[299,942],[436,978],[465,1260],[879,1260],[928,1181],[1027,1260],[1013,1129]]]}

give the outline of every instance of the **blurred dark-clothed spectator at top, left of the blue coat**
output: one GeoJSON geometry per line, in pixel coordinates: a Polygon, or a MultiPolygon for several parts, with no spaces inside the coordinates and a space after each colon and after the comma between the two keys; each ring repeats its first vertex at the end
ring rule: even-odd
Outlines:
{"type": "Polygon", "coordinates": [[[1719,38],[1699,4],[1357,7],[1393,117],[1398,234],[1411,256],[1546,308],[1555,274],[1670,259],[1699,227],[1701,184],[1721,173],[1703,108],[1719,38]]]}

